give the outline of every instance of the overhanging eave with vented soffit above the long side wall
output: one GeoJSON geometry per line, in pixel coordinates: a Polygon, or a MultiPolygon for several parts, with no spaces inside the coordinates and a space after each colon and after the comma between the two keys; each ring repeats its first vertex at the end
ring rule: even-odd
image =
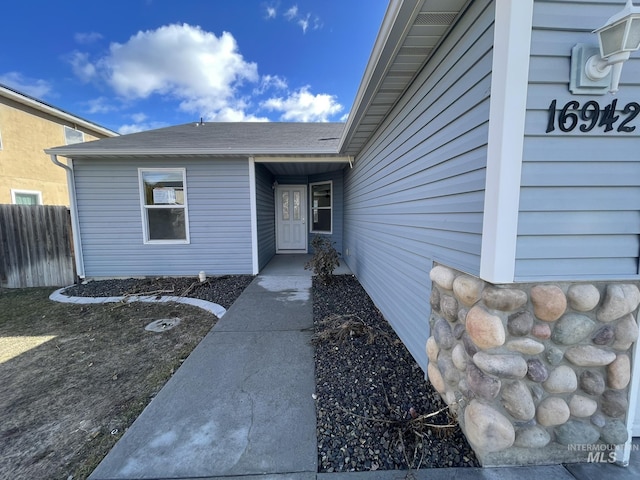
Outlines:
{"type": "Polygon", "coordinates": [[[357,155],[473,0],[391,0],[340,143],[357,155]]]}

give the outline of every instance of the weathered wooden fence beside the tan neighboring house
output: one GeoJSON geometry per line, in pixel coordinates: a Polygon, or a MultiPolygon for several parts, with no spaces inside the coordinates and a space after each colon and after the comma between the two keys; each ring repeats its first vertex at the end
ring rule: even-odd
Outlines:
{"type": "Polygon", "coordinates": [[[67,207],[0,205],[0,287],[65,286],[75,281],[67,207]]]}

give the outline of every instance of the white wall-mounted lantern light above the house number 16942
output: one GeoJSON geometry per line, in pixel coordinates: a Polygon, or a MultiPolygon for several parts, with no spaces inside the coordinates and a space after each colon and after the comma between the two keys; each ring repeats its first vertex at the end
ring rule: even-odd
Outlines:
{"type": "Polygon", "coordinates": [[[593,33],[598,35],[599,49],[579,43],[571,50],[569,90],[573,94],[616,93],[622,64],[640,48],[640,7],[627,0],[622,11],[593,33]]]}

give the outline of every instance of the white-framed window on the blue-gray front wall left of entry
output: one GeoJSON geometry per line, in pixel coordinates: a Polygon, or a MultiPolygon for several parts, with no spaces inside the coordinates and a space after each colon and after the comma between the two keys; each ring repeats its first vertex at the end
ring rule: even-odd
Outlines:
{"type": "Polygon", "coordinates": [[[145,243],[189,243],[184,168],[139,169],[145,243]]]}

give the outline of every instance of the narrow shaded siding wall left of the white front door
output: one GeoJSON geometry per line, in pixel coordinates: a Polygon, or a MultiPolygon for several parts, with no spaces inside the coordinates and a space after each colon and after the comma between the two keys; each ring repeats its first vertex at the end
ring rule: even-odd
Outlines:
{"type": "Polygon", "coordinates": [[[262,270],[276,254],[276,220],[273,175],[256,164],[256,214],[258,221],[258,267],[262,270]]]}

